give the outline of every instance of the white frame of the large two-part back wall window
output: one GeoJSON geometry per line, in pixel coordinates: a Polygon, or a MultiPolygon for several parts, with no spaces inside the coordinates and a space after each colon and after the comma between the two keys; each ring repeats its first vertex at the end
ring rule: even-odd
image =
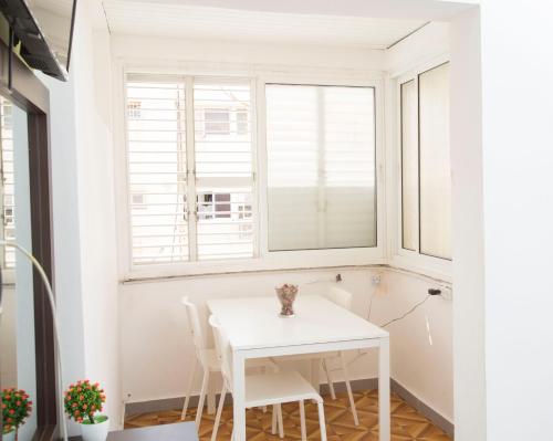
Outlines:
{"type": "MultiPolygon", "coordinates": [[[[386,210],[385,210],[385,149],[384,149],[384,77],[380,72],[356,71],[344,74],[341,71],[321,69],[290,69],[283,72],[272,66],[190,63],[189,66],[145,65],[118,60],[114,66],[113,87],[115,122],[114,143],[116,146],[115,179],[117,188],[117,231],[119,277],[122,281],[139,281],[149,279],[167,279],[179,275],[202,275],[237,273],[241,271],[272,271],[293,269],[317,269],[335,266],[362,266],[386,264],[386,210]],[[220,73],[225,72],[225,76],[220,73]],[[133,265],[132,239],[128,212],[123,210],[128,202],[127,164],[126,164],[126,93],[125,77],[127,73],[171,74],[195,77],[218,77],[227,80],[249,80],[252,83],[252,155],[253,155],[253,198],[252,217],[254,228],[254,256],[225,261],[194,261],[171,264],[133,265]],[[322,85],[322,86],[362,86],[375,90],[375,137],[376,137],[376,231],[377,244],[374,248],[323,249],[304,251],[268,250],[268,210],[267,210],[267,132],[265,132],[265,95],[268,83],[322,85]]],[[[189,146],[187,145],[189,148],[189,146]]]]}

